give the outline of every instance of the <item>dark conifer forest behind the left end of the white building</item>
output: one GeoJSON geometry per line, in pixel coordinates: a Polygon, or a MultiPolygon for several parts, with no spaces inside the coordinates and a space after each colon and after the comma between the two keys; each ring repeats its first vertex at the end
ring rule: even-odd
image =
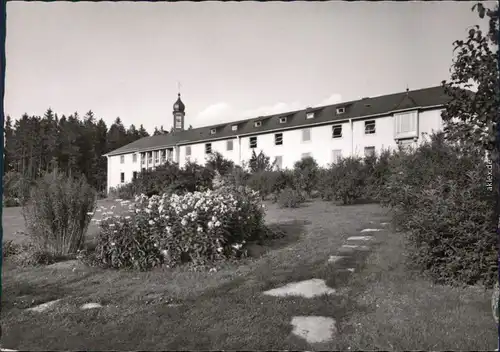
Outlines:
{"type": "MultiPolygon", "coordinates": [[[[169,133],[155,128],[153,135],[169,133]]],[[[5,119],[4,172],[35,180],[56,167],[72,175],[83,174],[96,190],[106,189],[104,154],[149,136],[143,125],[125,128],[117,117],[111,126],[92,111],[58,116],[47,109],[43,116],[24,114],[5,119]]]]}

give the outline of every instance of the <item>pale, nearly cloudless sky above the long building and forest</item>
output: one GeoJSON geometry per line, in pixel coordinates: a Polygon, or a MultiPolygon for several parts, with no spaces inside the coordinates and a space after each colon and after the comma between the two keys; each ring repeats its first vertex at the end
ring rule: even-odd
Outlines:
{"type": "Polygon", "coordinates": [[[178,82],[186,127],[436,86],[481,23],[472,5],[8,2],[5,113],[152,132],[172,126],[178,82]]]}

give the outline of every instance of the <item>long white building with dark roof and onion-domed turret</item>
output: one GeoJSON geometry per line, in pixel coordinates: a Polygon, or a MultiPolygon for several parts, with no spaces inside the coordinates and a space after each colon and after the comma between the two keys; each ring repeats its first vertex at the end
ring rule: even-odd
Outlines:
{"type": "Polygon", "coordinates": [[[173,133],[145,137],[106,154],[108,191],[166,160],[202,164],[215,151],[238,165],[252,151],[263,151],[288,168],[305,156],[326,166],[340,156],[416,146],[422,133],[442,130],[441,111],[449,99],[442,87],[431,87],[185,130],[179,94],[173,133]]]}

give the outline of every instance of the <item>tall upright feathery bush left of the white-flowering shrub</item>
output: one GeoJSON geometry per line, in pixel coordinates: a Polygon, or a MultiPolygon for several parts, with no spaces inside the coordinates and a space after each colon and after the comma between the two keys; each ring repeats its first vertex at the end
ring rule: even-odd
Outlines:
{"type": "Polygon", "coordinates": [[[36,181],[23,216],[40,251],[51,256],[76,253],[96,206],[96,193],[83,177],[73,179],[55,170],[36,181]]]}

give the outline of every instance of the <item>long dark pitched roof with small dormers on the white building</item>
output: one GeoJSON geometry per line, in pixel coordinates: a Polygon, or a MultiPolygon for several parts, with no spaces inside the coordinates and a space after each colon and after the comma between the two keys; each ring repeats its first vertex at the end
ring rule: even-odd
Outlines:
{"type": "Polygon", "coordinates": [[[200,141],[229,138],[238,135],[261,134],[265,131],[304,127],[320,123],[330,123],[349,118],[362,118],[370,115],[382,115],[395,110],[410,109],[413,107],[426,108],[444,105],[450,97],[441,86],[383,95],[373,98],[363,98],[356,101],[342,102],[319,108],[308,108],[299,111],[291,111],[271,116],[261,116],[240,121],[219,123],[212,126],[194,128],[191,130],[169,133],[165,135],[151,136],[139,139],[121,148],[113,150],[108,155],[131,153],[140,150],[154,148],[173,147],[177,144],[193,144],[200,141]],[[344,107],[345,112],[337,114],[336,110],[344,107]],[[306,119],[306,114],[314,111],[313,119],[306,119]],[[286,123],[280,123],[280,117],[287,117],[286,123]],[[260,127],[255,127],[255,121],[262,121],[260,127]],[[232,126],[238,125],[238,130],[233,131],[232,126]],[[216,129],[215,134],[210,130],[216,129]]]}

